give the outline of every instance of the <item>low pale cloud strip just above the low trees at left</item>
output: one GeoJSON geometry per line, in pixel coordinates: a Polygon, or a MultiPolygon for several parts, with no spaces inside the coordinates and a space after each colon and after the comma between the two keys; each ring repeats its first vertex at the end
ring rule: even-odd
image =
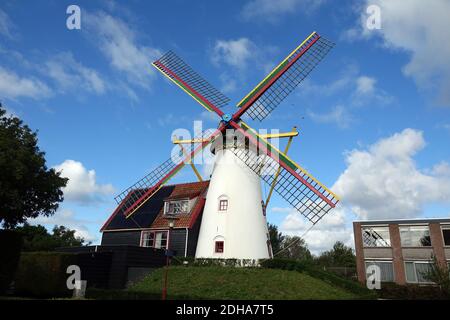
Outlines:
{"type": "Polygon", "coordinates": [[[35,219],[29,221],[32,225],[43,225],[48,229],[52,229],[55,225],[64,226],[71,230],[75,230],[75,235],[77,237],[82,237],[86,241],[97,241],[97,236],[91,234],[87,227],[88,224],[98,224],[97,221],[87,221],[84,219],[79,219],[72,210],[60,209],[52,216],[39,216],[35,219]]]}

